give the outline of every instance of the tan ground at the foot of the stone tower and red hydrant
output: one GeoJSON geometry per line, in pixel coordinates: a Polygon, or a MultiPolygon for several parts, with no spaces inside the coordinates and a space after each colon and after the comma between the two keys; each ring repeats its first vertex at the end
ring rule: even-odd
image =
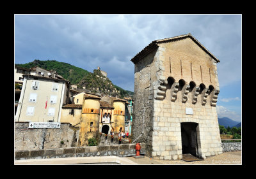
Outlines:
{"type": "Polygon", "coordinates": [[[220,165],[220,164],[233,164],[233,165],[239,165],[242,164],[241,162],[241,151],[236,152],[224,152],[220,155],[215,155],[212,157],[208,157],[204,161],[194,161],[194,162],[185,162],[185,161],[164,161],[164,160],[154,160],[150,159],[149,157],[145,156],[145,158],[142,159],[135,159],[134,157],[125,157],[127,159],[130,159],[133,162],[136,162],[137,164],[214,164],[214,165],[220,165]]]}

